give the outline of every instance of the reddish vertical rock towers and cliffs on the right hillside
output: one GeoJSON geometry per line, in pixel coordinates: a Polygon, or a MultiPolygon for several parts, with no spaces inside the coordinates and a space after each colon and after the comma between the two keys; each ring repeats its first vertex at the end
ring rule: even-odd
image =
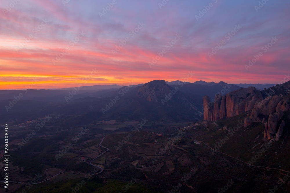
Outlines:
{"type": "MultiPolygon", "coordinates": [[[[264,91],[255,87],[239,89],[226,95],[215,95],[214,101],[204,96],[204,120],[216,121],[248,112],[244,127],[253,122],[265,124],[264,137],[280,139],[285,126],[284,115],[290,109],[290,81],[264,91]]],[[[286,117],[287,118],[287,117],[286,117]]]]}

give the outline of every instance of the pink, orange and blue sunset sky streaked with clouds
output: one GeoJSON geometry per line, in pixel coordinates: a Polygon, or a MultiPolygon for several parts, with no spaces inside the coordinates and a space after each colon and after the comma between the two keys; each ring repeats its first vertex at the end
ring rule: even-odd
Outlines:
{"type": "Polygon", "coordinates": [[[276,84],[290,72],[289,0],[264,0],[261,8],[258,0],[12,2],[0,2],[2,90],[22,89],[33,78],[33,89],[77,86],[92,69],[87,86],[184,80],[189,72],[189,82],[276,84]]]}

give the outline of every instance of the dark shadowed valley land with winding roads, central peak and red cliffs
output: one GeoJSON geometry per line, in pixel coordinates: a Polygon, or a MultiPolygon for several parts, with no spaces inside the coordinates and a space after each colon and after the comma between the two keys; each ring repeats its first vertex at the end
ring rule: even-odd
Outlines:
{"type": "Polygon", "coordinates": [[[118,90],[20,100],[1,114],[0,175],[5,123],[10,183],[3,188],[2,178],[0,192],[289,192],[289,84],[215,95],[214,106],[205,97],[204,109],[201,95],[158,80],[131,88],[104,113],[118,90]]]}

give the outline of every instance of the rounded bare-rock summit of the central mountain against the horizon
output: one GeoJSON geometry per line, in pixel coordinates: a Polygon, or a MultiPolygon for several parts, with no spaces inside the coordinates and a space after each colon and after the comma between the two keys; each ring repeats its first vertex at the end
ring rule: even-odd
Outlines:
{"type": "Polygon", "coordinates": [[[144,84],[138,91],[137,96],[149,102],[158,102],[164,95],[170,93],[170,86],[164,80],[153,80],[144,84]]]}

